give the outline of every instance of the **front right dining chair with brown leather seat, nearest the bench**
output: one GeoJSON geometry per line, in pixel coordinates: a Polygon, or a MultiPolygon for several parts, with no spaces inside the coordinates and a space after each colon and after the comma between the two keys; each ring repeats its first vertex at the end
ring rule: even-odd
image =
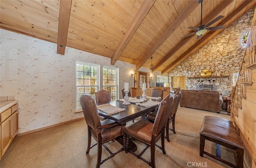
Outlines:
{"type": "Polygon", "coordinates": [[[155,165],[155,146],[156,142],[161,138],[162,147],[158,146],[160,149],[162,149],[163,154],[166,154],[165,147],[164,147],[164,134],[165,134],[165,126],[167,122],[167,117],[170,113],[170,108],[172,106],[173,98],[172,96],[168,95],[164,98],[164,100],[161,101],[160,106],[158,108],[158,112],[156,114],[156,119],[154,124],[148,120],[142,119],[134,124],[128,126],[126,128],[126,134],[124,135],[126,138],[125,142],[125,150],[127,152],[131,152],[128,149],[130,136],[139,140],[140,142],[143,142],[146,144],[146,148],[140,153],[136,154],[134,152],[131,152],[141,160],[148,163],[153,168],[156,167],[155,165]],[[147,161],[146,159],[142,158],[142,154],[148,149],[150,146],[150,154],[151,154],[151,162],[147,161]]]}

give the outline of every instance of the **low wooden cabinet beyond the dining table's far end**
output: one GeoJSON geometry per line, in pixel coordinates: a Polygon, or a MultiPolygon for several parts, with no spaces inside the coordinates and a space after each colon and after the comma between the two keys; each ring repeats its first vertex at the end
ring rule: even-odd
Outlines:
{"type": "MultiPolygon", "coordinates": [[[[154,88],[158,88],[161,90],[164,90],[164,97],[165,98],[167,95],[170,94],[170,88],[169,87],[153,87],[153,88],[146,88],[146,95],[151,96],[151,92],[154,88]]],[[[132,88],[132,97],[136,96],[142,96],[143,92],[141,88],[132,88]]]]}

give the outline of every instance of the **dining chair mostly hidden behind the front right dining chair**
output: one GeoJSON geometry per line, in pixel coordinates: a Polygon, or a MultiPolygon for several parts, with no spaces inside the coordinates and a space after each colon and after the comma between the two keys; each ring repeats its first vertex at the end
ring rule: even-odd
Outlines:
{"type": "MultiPolygon", "coordinates": [[[[176,131],[175,131],[175,116],[176,116],[178,106],[180,104],[181,97],[182,97],[181,92],[176,92],[176,94],[174,94],[173,105],[172,105],[172,108],[170,110],[168,120],[166,122],[166,139],[167,139],[168,142],[170,142],[169,130],[172,130],[173,133],[176,134],[176,131]],[[170,125],[171,122],[172,122],[172,129],[169,128],[169,125],[170,125]]],[[[148,118],[148,120],[154,122],[154,120],[156,118],[156,112],[152,112],[152,113],[148,114],[147,118],[148,118]]]]}

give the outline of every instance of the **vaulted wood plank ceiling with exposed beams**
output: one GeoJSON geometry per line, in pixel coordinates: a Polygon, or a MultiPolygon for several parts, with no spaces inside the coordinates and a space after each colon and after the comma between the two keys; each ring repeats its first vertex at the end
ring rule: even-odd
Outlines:
{"type": "MultiPolygon", "coordinates": [[[[222,30],[194,32],[201,24],[198,0],[1,0],[0,28],[140,67],[170,72],[222,30]]],[[[202,24],[225,28],[256,0],[203,0],[202,24]]],[[[211,27],[212,27],[211,26],[211,27]]],[[[92,58],[93,59],[93,58],[92,58]]]]}

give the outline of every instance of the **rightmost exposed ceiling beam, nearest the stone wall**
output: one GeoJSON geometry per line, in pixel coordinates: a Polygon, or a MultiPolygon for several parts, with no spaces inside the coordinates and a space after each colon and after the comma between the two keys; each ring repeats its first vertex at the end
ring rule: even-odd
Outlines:
{"type": "MultiPolygon", "coordinates": [[[[230,15],[228,15],[224,20],[222,20],[222,22],[220,22],[220,24],[218,24],[218,26],[221,25],[226,25],[226,27],[228,27],[229,25],[227,25],[228,21],[231,20],[232,18],[236,17],[237,15],[239,15],[237,18],[241,17],[244,13],[242,13],[241,11],[246,8],[246,6],[248,6],[250,3],[252,3],[254,0],[246,0],[244,1],[243,4],[241,4],[240,6],[238,6],[238,8],[236,8],[236,10],[234,10],[230,15]]],[[[254,4],[256,2],[253,2],[254,4]]],[[[249,10],[249,9],[248,9],[249,10]]],[[[216,36],[214,35],[216,32],[218,32],[217,34],[219,34],[220,32],[222,32],[222,30],[217,30],[217,31],[210,31],[207,34],[205,34],[202,38],[200,38],[200,40],[198,40],[193,46],[191,46],[186,52],[184,52],[181,56],[179,56],[174,62],[172,62],[172,64],[170,64],[168,67],[166,67],[163,71],[162,74],[165,73],[167,70],[169,70],[170,68],[172,68],[172,66],[174,66],[177,62],[179,62],[182,58],[184,58],[187,54],[189,54],[192,50],[194,50],[198,45],[200,45],[201,43],[204,42],[204,44],[206,44],[207,42],[210,41],[210,37],[211,36],[216,36]]],[[[194,51],[195,52],[195,51],[194,51]]],[[[193,52],[193,53],[194,53],[193,52]]],[[[193,54],[193,53],[190,53],[193,54]]]]}

